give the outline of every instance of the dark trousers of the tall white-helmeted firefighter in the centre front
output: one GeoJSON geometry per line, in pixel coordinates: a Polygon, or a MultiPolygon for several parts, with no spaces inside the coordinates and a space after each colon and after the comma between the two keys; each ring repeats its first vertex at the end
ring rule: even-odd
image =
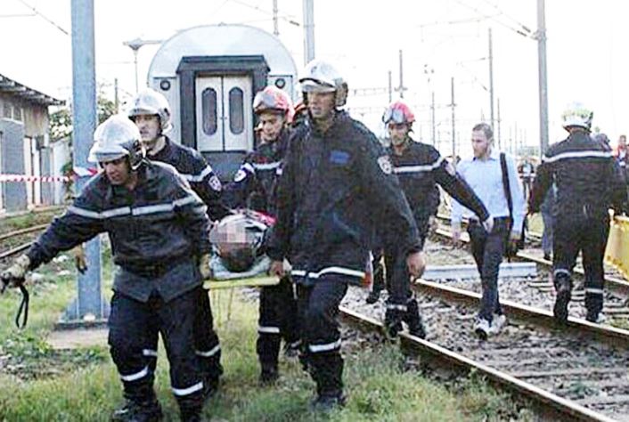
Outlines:
{"type": "Polygon", "coordinates": [[[302,346],[319,396],[343,391],[343,358],[340,355],[339,304],[347,281],[325,274],[311,284],[298,284],[298,315],[302,346]]]}

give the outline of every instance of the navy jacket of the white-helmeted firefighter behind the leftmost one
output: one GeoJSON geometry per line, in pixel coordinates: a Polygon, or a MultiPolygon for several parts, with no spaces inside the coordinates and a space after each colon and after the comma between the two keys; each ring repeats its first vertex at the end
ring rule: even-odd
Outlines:
{"type": "Polygon", "coordinates": [[[231,214],[229,208],[225,207],[221,200],[222,186],[218,176],[199,151],[179,145],[166,137],[164,148],[149,158],[152,161],[160,161],[174,166],[190,183],[192,190],[197,192],[200,199],[203,199],[203,202],[208,205],[210,219],[216,221],[231,214]]]}

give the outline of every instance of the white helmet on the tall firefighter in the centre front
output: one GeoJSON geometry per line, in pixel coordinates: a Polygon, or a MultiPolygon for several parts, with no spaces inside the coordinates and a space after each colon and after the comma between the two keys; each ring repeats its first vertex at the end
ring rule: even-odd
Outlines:
{"type": "Polygon", "coordinates": [[[299,78],[302,93],[336,93],[336,107],[347,102],[347,82],[327,61],[314,60],[306,64],[299,78]]]}

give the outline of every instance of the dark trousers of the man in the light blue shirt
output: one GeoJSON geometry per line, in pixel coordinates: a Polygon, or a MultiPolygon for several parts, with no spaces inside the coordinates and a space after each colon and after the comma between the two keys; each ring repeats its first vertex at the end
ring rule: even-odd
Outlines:
{"type": "Polygon", "coordinates": [[[471,253],[478,267],[483,288],[478,317],[491,322],[494,313],[502,314],[498,295],[498,272],[509,239],[509,219],[494,218],[491,233],[487,233],[480,223],[472,221],[468,225],[468,233],[471,253]]]}

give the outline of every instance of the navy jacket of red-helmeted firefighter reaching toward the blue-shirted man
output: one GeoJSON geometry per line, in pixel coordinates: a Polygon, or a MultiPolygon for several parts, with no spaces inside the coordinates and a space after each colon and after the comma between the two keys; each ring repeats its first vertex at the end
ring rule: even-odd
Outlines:
{"type": "Polygon", "coordinates": [[[470,186],[456,175],[453,166],[441,157],[438,150],[426,143],[413,140],[407,142],[407,147],[401,155],[396,155],[393,147],[389,148],[389,154],[393,162],[393,171],[397,174],[406,200],[413,210],[421,236],[427,234],[429,216],[437,214],[439,204],[437,183],[453,199],[474,211],[480,221],[485,221],[489,217],[481,200],[470,186]]]}

